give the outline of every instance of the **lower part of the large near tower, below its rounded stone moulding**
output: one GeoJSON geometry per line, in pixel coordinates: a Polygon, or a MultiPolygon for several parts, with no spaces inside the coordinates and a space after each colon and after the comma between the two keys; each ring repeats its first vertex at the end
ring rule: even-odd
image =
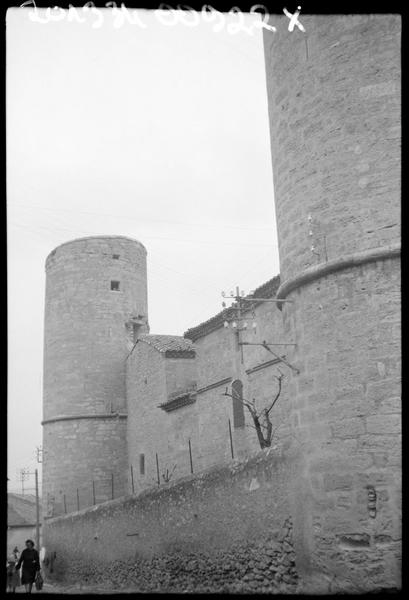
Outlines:
{"type": "MultiPolygon", "coordinates": [[[[301,572],[332,591],[400,587],[399,261],[340,271],[291,294],[290,382],[301,572]],[[316,327],[316,323],[320,327],[316,327]]],[[[315,584],[314,584],[315,585],[315,584]]]]}

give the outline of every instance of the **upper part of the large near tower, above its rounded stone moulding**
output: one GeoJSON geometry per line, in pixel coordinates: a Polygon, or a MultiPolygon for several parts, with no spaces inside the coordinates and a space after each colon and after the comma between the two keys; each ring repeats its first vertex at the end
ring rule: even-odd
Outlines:
{"type": "Polygon", "coordinates": [[[282,282],[400,239],[400,16],[300,21],[264,32],[282,282]]]}

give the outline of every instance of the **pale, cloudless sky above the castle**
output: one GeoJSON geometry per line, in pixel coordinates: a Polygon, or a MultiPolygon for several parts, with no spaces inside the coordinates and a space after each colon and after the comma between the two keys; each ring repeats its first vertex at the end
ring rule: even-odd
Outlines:
{"type": "Polygon", "coordinates": [[[51,250],[87,235],[141,241],[156,334],[183,335],[222,309],[222,291],[279,272],[257,18],[128,14],[7,13],[10,491],[22,468],[41,475],[51,250]]]}

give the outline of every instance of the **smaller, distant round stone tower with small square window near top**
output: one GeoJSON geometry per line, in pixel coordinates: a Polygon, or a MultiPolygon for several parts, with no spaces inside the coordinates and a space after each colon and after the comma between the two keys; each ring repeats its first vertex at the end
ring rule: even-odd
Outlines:
{"type": "Polygon", "coordinates": [[[44,516],[125,492],[125,360],[148,331],[146,250],[122,236],[58,246],[46,260],[44,516]]]}

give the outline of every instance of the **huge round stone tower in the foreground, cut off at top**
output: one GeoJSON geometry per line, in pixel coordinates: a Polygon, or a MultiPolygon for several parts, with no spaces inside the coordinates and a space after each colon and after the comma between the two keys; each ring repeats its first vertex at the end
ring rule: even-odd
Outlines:
{"type": "Polygon", "coordinates": [[[399,588],[400,17],[299,22],[264,31],[297,569],[399,588]]]}

